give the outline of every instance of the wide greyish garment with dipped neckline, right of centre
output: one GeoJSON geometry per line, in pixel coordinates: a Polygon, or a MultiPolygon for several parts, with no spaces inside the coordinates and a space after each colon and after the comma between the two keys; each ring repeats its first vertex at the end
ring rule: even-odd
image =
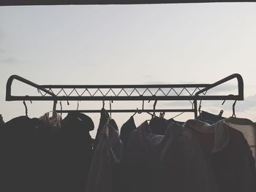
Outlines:
{"type": "Polygon", "coordinates": [[[142,123],[129,134],[124,161],[127,192],[218,191],[200,143],[176,123],[164,135],[142,123]]]}

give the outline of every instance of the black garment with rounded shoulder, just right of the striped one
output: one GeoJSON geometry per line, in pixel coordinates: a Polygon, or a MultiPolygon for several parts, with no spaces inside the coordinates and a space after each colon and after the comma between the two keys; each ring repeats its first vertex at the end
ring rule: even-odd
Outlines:
{"type": "Polygon", "coordinates": [[[92,158],[89,130],[94,123],[87,115],[72,112],[61,121],[61,191],[84,191],[92,158]]]}

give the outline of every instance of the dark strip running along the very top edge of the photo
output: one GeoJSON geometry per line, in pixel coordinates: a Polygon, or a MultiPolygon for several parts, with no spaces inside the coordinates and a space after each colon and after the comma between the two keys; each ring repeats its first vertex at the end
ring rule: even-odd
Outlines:
{"type": "MultiPolygon", "coordinates": [[[[246,0],[253,1],[253,0],[246,0]]],[[[184,4],[184,3],[214,3],[241,2],[237,0],[1,0],[0,6],[17,5],[64,5],[64,4],[184,4]]]]}

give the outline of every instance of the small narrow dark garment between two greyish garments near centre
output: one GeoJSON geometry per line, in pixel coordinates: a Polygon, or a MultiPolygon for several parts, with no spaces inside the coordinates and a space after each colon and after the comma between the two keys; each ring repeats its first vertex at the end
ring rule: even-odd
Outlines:
{"type": "Polygon", "coordinates": [[[124,148],[127,146],[129,133],[135,129],[136,129],[136,126],[135,126],[135,120],[133,117],[130,117],[129,120],[127,120],[127,122],[125,122],[123,126],[121,126],[120,139],[124,144],[124,148]]]}

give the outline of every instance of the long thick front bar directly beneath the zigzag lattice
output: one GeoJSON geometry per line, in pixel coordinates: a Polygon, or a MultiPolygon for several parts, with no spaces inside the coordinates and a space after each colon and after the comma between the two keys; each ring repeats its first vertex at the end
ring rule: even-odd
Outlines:
{"type": "Polygon", "coordinates": [[[186,100],[238,100],[240,96],[9,96],[7,101],[186,101],[186,100]]]}

